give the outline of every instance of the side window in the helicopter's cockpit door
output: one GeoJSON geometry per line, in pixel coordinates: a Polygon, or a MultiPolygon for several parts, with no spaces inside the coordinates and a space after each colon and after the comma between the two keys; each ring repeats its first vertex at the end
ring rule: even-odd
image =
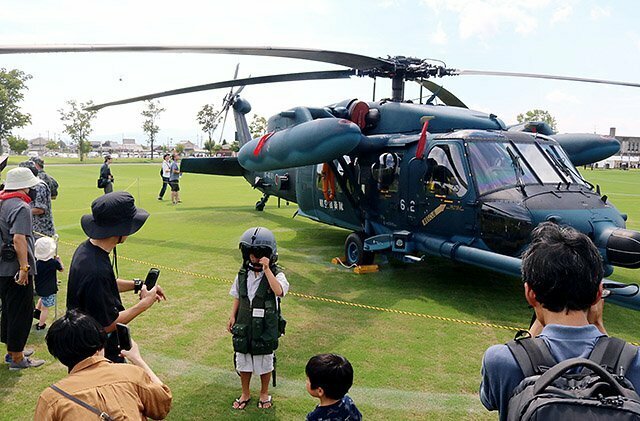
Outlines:
{"type": "Polygon", "coordinates": [[[467,193],[469,181],[465,175],[460,150],[449,145],[434,146],[427,156],[424,182],[430,193],[464,196],[467,193]]]}

